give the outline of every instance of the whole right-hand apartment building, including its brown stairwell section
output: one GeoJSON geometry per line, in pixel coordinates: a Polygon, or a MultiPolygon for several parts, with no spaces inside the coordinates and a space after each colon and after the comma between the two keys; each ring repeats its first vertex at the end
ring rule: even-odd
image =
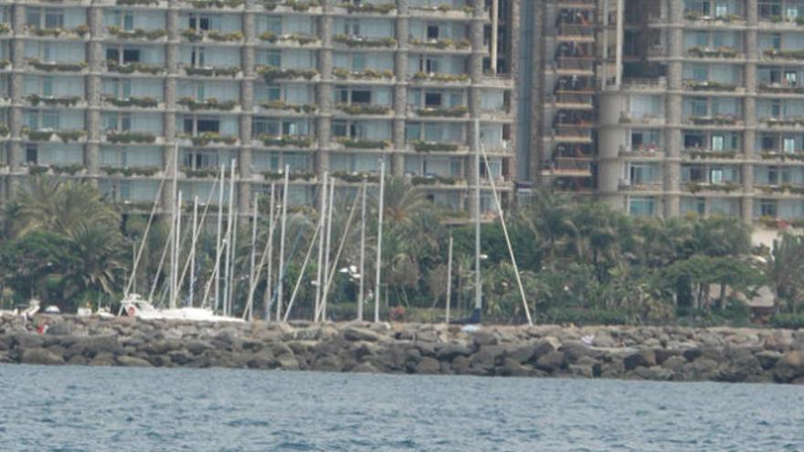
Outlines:
{"type": "Polygon", "coordinates": [[[518,136],[535,184],[633,215],[804,223],[804,1],[536,5],[518,136]]]}

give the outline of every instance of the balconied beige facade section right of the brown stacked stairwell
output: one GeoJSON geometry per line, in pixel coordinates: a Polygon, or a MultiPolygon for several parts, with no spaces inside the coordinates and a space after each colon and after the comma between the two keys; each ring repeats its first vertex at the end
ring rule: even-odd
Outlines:
{"type": "Polygon", "coordinates": [[[633,215],[804,222],[802,24],[799,0],[626,2],[600,195],[633,215]]]}

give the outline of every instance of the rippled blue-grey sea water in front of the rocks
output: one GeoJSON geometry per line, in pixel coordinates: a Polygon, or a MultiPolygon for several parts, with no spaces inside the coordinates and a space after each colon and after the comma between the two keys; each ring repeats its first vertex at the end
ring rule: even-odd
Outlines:
{"type": "Polygon", "coordinates": [[[0,364],[0,451],[804,451],[804,388],[0,364]]]}

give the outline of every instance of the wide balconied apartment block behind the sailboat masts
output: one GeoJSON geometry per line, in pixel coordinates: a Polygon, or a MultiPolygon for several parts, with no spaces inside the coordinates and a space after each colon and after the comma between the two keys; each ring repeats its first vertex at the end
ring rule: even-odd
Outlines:
{"type": "MultiPolygon", "coordinates": [[[[519,0],[17,0],[0,3],[6,192],[30,174],[153,201],[179,146],[179,189],[206,199],[237,162],[248,211],[291,169],[311,204],[389,173],[469,209],[480,142],[513,186],[519,0]]],[[[487,208],[492,205],[485,200],[487,208]]]]}

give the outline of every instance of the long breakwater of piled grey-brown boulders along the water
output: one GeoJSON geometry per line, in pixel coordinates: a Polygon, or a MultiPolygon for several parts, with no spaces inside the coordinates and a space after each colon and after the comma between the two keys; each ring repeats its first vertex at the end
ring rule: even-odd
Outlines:
{"type": "Polygon", "coordinates": [[[5,316],[0,363],[804,384],[804,330],[5,316]]]}

